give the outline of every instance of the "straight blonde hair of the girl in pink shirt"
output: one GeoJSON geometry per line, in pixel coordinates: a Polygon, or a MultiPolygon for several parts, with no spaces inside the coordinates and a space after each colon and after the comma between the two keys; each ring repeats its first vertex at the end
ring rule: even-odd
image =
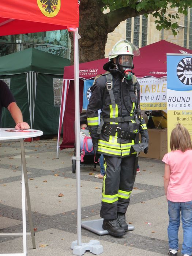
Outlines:
{"type": "Polygon", "coordinates": [[[177,124],[173,129],[170,137],[171,150],[181,150],[185,152],[188,149],[192,149],[191,136],[182,124],[177,124]]]}

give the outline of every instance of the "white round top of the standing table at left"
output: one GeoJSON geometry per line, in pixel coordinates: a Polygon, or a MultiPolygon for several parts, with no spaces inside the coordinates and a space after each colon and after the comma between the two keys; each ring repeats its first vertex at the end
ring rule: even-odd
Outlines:
{"type": "Polygon", "coordinates": [[[0,140],[25,139],[41,135],[43,135],[42,131],[34,129],[16,130],[15,128],[0,128],[0,140]]]}

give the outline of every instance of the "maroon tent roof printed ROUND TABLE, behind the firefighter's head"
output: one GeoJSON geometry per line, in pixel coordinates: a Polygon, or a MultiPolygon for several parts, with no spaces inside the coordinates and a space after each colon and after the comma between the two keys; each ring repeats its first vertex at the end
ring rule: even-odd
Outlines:
{"type": "MultiPolygon", "coordinates": [[[[139,50],[140,56],[134,57],[133,60],[135,65],[133,71],[138,78],[145,76],[154,76],[156,78],[167,76],[167,53],[192,54],[192,50],[165,40],[144,46],[139,50]]],[[[79,78],[91,79],[96,75],[104,74],[106,71],[103,70],[103,64],[106,62],[108,62],[108,58],[79,64],[79,78]]],[[[64,79],[74,79],[74,66],[65,68],[64,79]]]]}

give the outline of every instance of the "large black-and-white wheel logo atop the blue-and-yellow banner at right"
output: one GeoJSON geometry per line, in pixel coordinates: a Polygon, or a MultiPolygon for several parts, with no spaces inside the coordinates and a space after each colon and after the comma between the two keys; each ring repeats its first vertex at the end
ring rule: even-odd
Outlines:
{"type": "Polygon", "coordinates": [[[192,84],[192,58],[184,58],[177,65],[177,76],[181,83],[192,84]]]}

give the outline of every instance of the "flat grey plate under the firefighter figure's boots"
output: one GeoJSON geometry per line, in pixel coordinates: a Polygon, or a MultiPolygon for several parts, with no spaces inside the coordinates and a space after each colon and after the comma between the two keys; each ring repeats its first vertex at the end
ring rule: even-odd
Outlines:
{"type": "MultiPolygon", "coordinates": [[[[103,219],[95,219],[92,221],[82,221],[81,226],[84,227],[84,229],[88,229],[92,231],[93,233],[96,233],[100,236],[108,235],[109,232],[107,230],[104,230],[102,228],[103,225],[103,219]]],[[[128,231],[134,230],[134,226],[128,224],[128,231]]]]}

